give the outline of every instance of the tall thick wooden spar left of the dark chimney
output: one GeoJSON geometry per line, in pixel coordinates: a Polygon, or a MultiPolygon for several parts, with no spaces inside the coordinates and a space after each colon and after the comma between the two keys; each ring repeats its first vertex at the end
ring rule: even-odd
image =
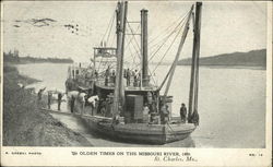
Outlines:
{"type": "MultiPolygon", "coordinates": [[[[117,72],[116,72],[116,84],[114,92],[114,108],[112,117],[119,115],[119,106],[123,104],[123,48],[124,48],[124,31],[126,31],[126,17],[127,17],[127,2],[118,3],[118,12],[120,17],[118,19],[118,44],[117,44],[117,72]],[[119,22],[120,21],[120,22],[119,22]]],[[[122,108],[122,106],[121,106],[122,108]]],[[[112,119],[115,120],[115,119],[112,119]]]]}

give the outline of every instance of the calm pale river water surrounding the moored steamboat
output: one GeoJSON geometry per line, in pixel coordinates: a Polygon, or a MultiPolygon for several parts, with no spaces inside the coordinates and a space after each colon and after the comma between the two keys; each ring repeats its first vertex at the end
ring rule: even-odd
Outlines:
{"type": "MultiPolygon", "coordinates": [[[[38,79],[34,87],[64,91],[69,64],[20,64],[21,74],[38,79]]],[[[151,67],[153,69],[153,67],[151,67]]],[[[161,83],[168,65],[161,65],[152,80],[161,83]]],[[[179,116],[181,103],[188,104],[190,67],[177,67],[169,95],[173,115],[179,116]]],[[[161,146],[167,147],[265,147],[265,81],[261,69],[201,67],[199,82],[200,126],[190,138],[161,146]]],[[[188,105],[187,105],[188,106],[188,105]]],[[[66,105],[62,106],[66,108],[66,105]]],[[[95,146],[158,146],[122,143],[94,135],[72,116],[52,115],[95,146]]]]}

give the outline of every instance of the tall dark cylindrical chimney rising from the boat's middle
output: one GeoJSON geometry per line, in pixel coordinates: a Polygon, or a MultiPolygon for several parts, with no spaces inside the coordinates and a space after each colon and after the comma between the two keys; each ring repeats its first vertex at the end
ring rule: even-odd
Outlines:
{"type": "Polygon", "coordinates": [[[147,10],[141,10],[141,56],[142,56],[142,85],[147,86],[147,10]]]}

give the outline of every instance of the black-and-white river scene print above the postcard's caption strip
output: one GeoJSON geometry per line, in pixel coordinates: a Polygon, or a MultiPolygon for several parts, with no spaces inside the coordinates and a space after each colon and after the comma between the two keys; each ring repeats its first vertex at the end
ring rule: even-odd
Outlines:
{"type": "Polygon", "coordinates": [[[269,148],[269,5],[1,2],[2,147],[269,148]]]}

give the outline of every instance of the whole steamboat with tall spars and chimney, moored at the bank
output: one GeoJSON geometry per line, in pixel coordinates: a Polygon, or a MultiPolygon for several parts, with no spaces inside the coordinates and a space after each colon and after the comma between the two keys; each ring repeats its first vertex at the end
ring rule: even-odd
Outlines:
{"type": "MultiPolygon", "coordinates": [[[[116,46],[108,47],[105,41],[102,41],[99,47],[94,47],[91,65],[83,67],[80,63],[69,67],[66,88],[71,112],[81,118],[92,131],[109,139],[165,144],[188,138],[199,124],[201,8],[201,2],[193,4],[176,27],[180,33],[177,53],[163,82],[155,85],[152,83],[153,76],[149,69],[149,11],[141,10],[140,22],[129,22],[128,2],[118,2],[114,12],[116,20],[111,20],[111,22],[116,21],[116,46]],[[173,96],[168,91],[191,22],[193,23],[193,51],[189,106],[187,115],[178,118],[171,116],[173,96]],[[133,23],[140,24],[141,33],[132,31],[133,23]],[[128,29],[131,32],[128,33],[128,29]],[[136,40],[134,36],[141,38],[139,69],[127,68],[126,36],[133,36],[131,40],[136,40]]],[[[109,25],[111,27],[112,23],[109,25]]]]}

